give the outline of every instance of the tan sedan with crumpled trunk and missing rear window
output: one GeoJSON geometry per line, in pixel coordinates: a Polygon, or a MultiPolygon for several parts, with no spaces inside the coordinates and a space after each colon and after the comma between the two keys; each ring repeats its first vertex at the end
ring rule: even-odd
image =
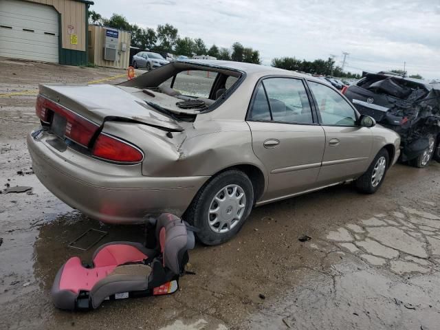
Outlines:
{"type": "Polygon", "coordinates": [[[174,61],[120,85],[40,85],[32,168],[107,223],[183,214],[208,245],[254,206],[354,181],[380,188],[399,135],[333,87],[232,61],[174,61]],[[209,73],[209,74],[208,74],[209,73]]]}

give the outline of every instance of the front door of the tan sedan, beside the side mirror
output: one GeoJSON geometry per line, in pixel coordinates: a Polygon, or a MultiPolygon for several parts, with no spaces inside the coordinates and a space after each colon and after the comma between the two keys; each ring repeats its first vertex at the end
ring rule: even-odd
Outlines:
{"type": "Polygon", "coordinates": [[[314,81],[308,81],[307,85],[325,131],[320,186],[364,173],[373,146],[371,130],[358,125],[355,109],[337,91],[314,81]]]}

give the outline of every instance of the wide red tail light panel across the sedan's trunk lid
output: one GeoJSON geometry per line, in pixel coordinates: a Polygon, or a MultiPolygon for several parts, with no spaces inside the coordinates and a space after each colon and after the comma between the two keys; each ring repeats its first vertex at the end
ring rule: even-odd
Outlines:
{"type": "Polygon", "coordinates": [[[98,131],[99,126],[61,104],[39,95],[36,98],[36,115],[40,120],[50,124],[54,113],[61,115],[66,120],[65,137],[83,146],[89,146],[90,140],[98,131]]]}

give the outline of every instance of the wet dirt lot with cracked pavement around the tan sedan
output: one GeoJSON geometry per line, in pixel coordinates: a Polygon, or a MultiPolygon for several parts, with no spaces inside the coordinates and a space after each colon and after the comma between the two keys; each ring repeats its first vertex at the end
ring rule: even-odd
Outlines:
{"type": "MultiPolygon", "coordinates": [[[[170,296],[54,309],[50,287],[88,228],[142,241],[142,226],[88,219],[32,173],[25,135],[38,83],[85,83],[119,70],[0,60],[0,329],[438,329],[440,164],[397,165],[375,195],[338,186],[256,208],[230,243],[190,253],[195,275],[170,296]],[[19,172],[19,173],[17,173],[19,172]],[[301,243],[307,234],[311,241],[301,243]],[[261,298],[263,296],[265,298],[261,298]]],[[[108,80],[114,83],[123,78],[108,80]]]]}

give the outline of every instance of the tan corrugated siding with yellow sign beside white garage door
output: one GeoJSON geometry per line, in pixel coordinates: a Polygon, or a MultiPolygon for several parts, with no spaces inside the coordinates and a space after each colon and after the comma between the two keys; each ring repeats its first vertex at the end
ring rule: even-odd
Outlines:
{"type": "Polygon", "coordinates": [[[61,14],[61,47],[68,50],[86,50],[86,5],[85,3],[73,0],[28,0],[45,5],[53,5],[61,14]],[[67,26],[74,25],[78,36],[78,45],[70,43],[70,34],[67,32],[67,26]]]}

